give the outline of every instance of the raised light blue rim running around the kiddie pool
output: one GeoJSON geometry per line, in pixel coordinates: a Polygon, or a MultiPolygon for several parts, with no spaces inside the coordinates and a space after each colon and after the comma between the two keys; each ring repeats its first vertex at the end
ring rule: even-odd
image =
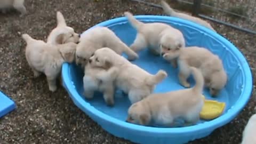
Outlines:
{"type": "MultiPolygon", "coordinates": [[[[251,69],[249,67],[249,64],[247,60],[245,59],[244,55],[237,49],[236,46],[234,46],[232,43],[230,43],[226,38],[220,36],[219,34],[215,33],[214,31],[207,29],[203,26],[197,25],[194,22],[188,21],[188,20],[183,20],[179,18],[173,18],[173,17],[168,17],[168,16],[160,16],[160,15],[135,15],[135,18],[139,20],[167,20],[167,21],[172,21],[172,22],[177,22],[181,24],[185,24],[187,26],[191,26],[194,28],[197,28],[201,31],[203,31],[206,34],[209,34],[220,41],[223,42],[226,47],[229,47],[229,50],[237,56],[239,62],[241,63],[241,67],[243,70],[243,76],[244,76],[244,90],[241,93],[243,97],[239,97],[239,99],[235,103],[234,108],[231,108],[228,110],[228,112],[225,115],[222,115],[216,119],[213,119],[212,121],[209,121],[207,123],[199,124],[196,126],[188,126],[188,127],[179,127],[179,128],[161,128],[161,127],[148,127],[148,126],[141,126],[141,125],[134,125],[130,123],[126,123],[124,121],[120,121],[119,119],[113,118],[111,116],[108,116],[101,111],[95,109],[92,107],[89,103],[85,102],[77,93],[75,90],[75,87],[73,87],[73,84],[69,81],[69,64],[64,63],[62,66],[62,78],[64,82],[65,89],[68,91],[70,97],[73,99],[75,105],[82,110],[86,109],[86,111],[94,114],[97,117],[100,117],[104,121],[107,121],[108,123],[114,123],[118,126],[123,126],[126,129],[132,129],[135,131],[140,131],[140,132],[149,132],[149,133],[174,133],[174,134],[184,134],[184,133],[191,133],[191,132],[200,132],[201,130],[208,129],[208,130],[215,130],[220,126],[223,126],[227,123],[229,123],[232,119],[236,117],[236,115],[245,107],[246,103],[249,101],[252,93],[252,73],[251,69]]],[[[125,22],[127,19],[125,17],[120,17],[120,18],[114,18],[110,19],[107,21],[103,21],[101,23],[98,23],[97,26],[109,26],[113,25],[116,22],[125,22]]],[[[93,28],[91,27],[91,28],[93,28]]],[[[90,29],[91,29],[90,28],[90,29]]],[[[201,131],[202,132],[202,131],[201,131]]],[[[209,133],[210,134],[210,133],[209,133]]],[[[206,135],[205,135],[206,136],[206,135]]]]}

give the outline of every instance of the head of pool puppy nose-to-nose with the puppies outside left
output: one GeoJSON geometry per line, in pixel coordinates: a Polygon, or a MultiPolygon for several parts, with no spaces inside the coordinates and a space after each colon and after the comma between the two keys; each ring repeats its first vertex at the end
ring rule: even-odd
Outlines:
{"type": "Polygon", "coordinates": [[[76,65],[81,65],[82,68],[87,65],[89,59],[93,56],[95,49],[92,47],[84,47],[79,43],[76,48],[76,65]]]}

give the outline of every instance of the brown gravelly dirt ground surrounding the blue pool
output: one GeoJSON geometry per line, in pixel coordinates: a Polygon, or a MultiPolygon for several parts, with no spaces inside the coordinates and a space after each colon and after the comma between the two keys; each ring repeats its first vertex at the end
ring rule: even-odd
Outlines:
{"type": "MultiPolygon", "coordinates": [[[[20,34],[28,33],[45,40],[56,25],[57,10],[78,33],[101,21],[120,17],[124,11],[163,14],[162,10],[128,0],[27,0],[26,7],[28,14],[22,18],[15,11],[0,13],[0,90],[18,106],[0,119],[0,143],[130,143],[101,129],[73,104],[62,87],[51,93],[44,76],[33,78],[20,34]]],[[[218,33],[240,48],[255,77],[255,35],[212,24],[218,33]]],[[[209,137],[190,143],[241,142],[242,131],[254,107],[255,92],[234,121],[215,130],[209,137]]]]}

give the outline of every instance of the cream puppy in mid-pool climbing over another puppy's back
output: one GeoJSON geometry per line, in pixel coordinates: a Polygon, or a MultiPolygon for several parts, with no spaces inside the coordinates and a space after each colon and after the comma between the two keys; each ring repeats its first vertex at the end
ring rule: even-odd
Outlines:
{"type": "Polygon", "coordinates": [[[90,58],[90,63],[93,67],[104,69],[117,67],[119,73],[115,84],[118,89],[128,94],[131,103],[147,97],[153,92],[155,85],[167,76],[163,70],[159,70],[156,75],[151,75],[108,47],[95,51],[90,58]]]}

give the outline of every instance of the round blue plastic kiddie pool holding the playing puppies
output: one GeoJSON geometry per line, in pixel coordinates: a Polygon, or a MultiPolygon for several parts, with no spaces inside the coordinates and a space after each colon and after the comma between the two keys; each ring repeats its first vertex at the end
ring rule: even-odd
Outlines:
{"type": "MultiPolygon", "coordinates": [[[[147,144],[186,143],[206,137],[213,130],[234,119],[239,111],[244,108],[252,92],[252,74],[243,54],[226,38],[193,22],[156,15],[137,15],[135,17],[143,22],[167,23],[182,31],[187,46],[206,47],[219,55],[228,74],[228,83],[225,89],[220,92],[218,98],[211,98],[209,91],[206,89],[203,94],[206,99],[226,102],[223,114],[211,121],[198,121],[196,125],[187,127],[171,128],[127,123],[125,122],[127,109],[131,104],[126,95],[116,93],[114,107],[108,107],[101,94],[96,94],[92,100],[85,100],[82,95],[83,71],[75,64],[65,63],[62,67],[63,85],[75,105],[101,125],[103,129],[116,137],[147,144]]],[[[124,17],[104,21],[94,27],[97,26],[110,28],[127,45],[132,44],[135,39],[136,30],[131,27],[124,17]]],[[[178,70],[173,69],[161,57],[155,57],[147,50],[140,52],[139,56],[140,59],[133,61],[133,63],[151,74],[155,74],[159,69],[164,69],[169,75],[156,86],[154,92],[184,89],[178,81],[178,70]]],[[[193,81],[193,79],[190,80],[193,81]]]]}

